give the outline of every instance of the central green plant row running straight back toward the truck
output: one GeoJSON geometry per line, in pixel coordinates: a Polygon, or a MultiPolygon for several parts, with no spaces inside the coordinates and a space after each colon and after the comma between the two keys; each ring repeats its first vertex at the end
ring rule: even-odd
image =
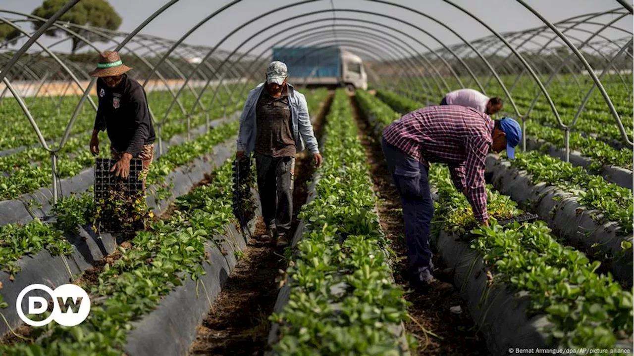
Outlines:
{"type": "MultiPolygon", "coordinates": [[[[325,126],[325,161],[316,198],[300,213],[303,239],[287,269],[290,300],[280,324],[280,355],[398,355],[389,329],[406,317],[346,94],[337,91],[325,126]]],[[[290,253],[290,249],[287,253],[290,253]]]]}

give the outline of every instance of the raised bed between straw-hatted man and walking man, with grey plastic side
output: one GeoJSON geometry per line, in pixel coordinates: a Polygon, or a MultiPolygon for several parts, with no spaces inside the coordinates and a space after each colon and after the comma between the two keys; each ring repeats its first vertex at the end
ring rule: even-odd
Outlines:
{"type": "Polygon", "coordinates": [[[179,198],[167,219],[120,247],[96,282],[82,284],[92,303],[86,321],[35,328],[29,337],[37,344],[0,346],[0,353],[183,355],[247,238],[231,214],[231,175],[227,161],[209,184],[179,198]]]}

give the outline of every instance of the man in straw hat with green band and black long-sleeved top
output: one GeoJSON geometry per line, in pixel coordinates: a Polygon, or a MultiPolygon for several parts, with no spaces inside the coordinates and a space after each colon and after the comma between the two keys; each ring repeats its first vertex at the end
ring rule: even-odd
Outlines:
{"type": "Polygon", "coordinates": [[[126,72],[132,68],[121,61],[119,53],[106,51],[100,54],[97,68],[90,73],[97,77],[99,108],[94,120],[90,151],[99,155],[99,137],[102,130],[108,132],[110,155],[117,160],[112,172],[117,177],[127,178],[130,160],[143,161],[143,187],[145,175],[154,156],[154,127],[143,86],[130,78],[126,72]]]}

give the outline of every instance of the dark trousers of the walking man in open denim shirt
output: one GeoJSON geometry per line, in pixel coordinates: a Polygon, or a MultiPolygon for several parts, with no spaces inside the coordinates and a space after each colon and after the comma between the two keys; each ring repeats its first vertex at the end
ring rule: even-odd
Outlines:
{"type": "Polygon", "coordinates": [[[267,229],[275,227],[278,236],[287,234],[293,216],[295,157],[271,157],[257,152],[254,156],[264,224],[267,229]]]}

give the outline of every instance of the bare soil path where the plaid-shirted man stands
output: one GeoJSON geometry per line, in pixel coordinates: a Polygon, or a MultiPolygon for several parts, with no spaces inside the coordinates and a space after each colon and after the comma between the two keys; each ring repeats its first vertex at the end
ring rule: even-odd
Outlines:
{"type": "MultiPolygon", "coordinates": [[[[411,318],[405,324],[406,331],[413,334],[420,347],[417,355],[489,355],[484,340],[477,334],[477,327],[472,321],[465,303],[456,291],[420,293],[413,291],[407,279],[407,254],[404,241],[403,212],[398,192],[392,184],[387,170],[380,142],[372,135],[372,130],[365,118],[361,117],[356,100],[351,96],[351,105],[359,127],[359,139],[365,147],[366,157],[370,165],[370,173],[374,183],[374,191],[378,195],[378,215],[381,227],[387,238],[392,241],[392,249],[396,253],[393,261],[394,279],[406,293],[405,298],[412,303],[408,308],[411,318]],[[460,306],[462,312],[454,314],[451,307],[460,306]],[[419,325],[420,324],[420,325],[419,325]],[[425,333],[422,327],[430,333],[425,333]],[[442,339],[441,339],[442,338],[442,339]]],[[[432,250],[434,250],[432,248],[432,250]]],[[[443,269],[438,251],[434,250],[434,267],[443,269]]]]}

